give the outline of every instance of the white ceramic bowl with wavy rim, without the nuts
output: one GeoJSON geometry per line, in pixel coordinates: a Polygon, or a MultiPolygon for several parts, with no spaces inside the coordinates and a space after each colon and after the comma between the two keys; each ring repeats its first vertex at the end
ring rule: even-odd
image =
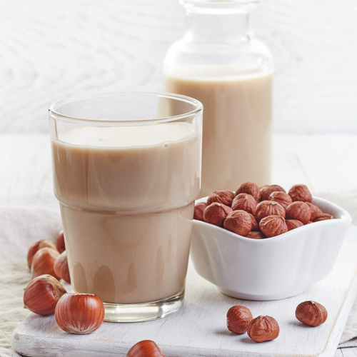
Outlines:
{"type": "Polygon", "coordinates": [[[222,293],[234,298],[266,301],[302,293],[328,276],[352,222],[350,214],[334,203],[316,197],[313,203],[335,219],[266,239],[238,236],[193,220],[193,266],[222,293]]]}

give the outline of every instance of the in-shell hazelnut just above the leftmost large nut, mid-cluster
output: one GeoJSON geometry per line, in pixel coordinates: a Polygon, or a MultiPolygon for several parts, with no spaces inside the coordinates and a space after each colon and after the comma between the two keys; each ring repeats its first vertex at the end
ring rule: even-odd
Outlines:
{"type": "Polygon", "coordinates": [[[52,248],[41,248],[36,251],[31,263],[32,278],[42,274],[49,274],[59,280],[59,276],[54,272],[54,261],[59,256],[59,252],[52,248]]]}

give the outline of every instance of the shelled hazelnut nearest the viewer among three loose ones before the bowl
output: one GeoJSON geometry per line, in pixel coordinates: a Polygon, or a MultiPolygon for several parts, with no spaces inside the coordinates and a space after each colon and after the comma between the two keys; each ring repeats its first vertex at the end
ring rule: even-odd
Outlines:
{"type": "Polygon", "coordinates": [[[279,336],[279,325],[271,316],[258,316],[248,324],[248,336],[256,342],[271,341],[279,336]]]}

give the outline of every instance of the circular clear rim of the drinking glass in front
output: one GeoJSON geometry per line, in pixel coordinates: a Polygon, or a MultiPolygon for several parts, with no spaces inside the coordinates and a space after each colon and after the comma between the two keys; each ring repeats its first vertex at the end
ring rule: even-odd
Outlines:
{"type": "Polygon", "coordinates": [[[78,96],[67,96],[63,99],[59,99],[55,101],[49,106],[49,116],[52,116],[56,119],[64,119],[65,121],[79,121],[82,123],[91,123],[91,124],[158,124],[162,122],[170,122],[170,121],[178,121],[181,119],[186,119],[190,116],[196,116],[198,113],[203,111],[203,104],[201,101],[197,99],[191,98],[189,96],[183,96],[181,94],[174,93],[166,93],[166,92],[150,92],[150,91],[114,91],[114,92],[106,92],[106,93],[95,93],[95,94],[83,94],[78,96]],[[131,95],[152,95],[156,96],[156,98],[166,98],[166,99],[176,99],[177,101],[183,101],[188,104],[192,104],[196,106],[196,109],[193,111],[188,111],[184,114],[179,114],[176,116],[165,116],[162,118],[148,118],[148,119],[124,119],[124,120],[105,120],[105,119],[86,119],[79,118],[77,116],[69,116],[65,114],[61,114],[59,111],[56,111],[54,108],[59,104],[70,103],[71,101],[79,101],[82,99],[91,99],[91,98],[99,98],[105,96],[118,96],[122,94],[131,94],[131,95]]]}

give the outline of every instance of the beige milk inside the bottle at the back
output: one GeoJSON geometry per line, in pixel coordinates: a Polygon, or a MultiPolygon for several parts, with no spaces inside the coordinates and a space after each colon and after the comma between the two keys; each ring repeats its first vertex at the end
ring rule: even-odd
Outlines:
{"type": "Polygon", "coordinates": [[[201,101],[201,197],[271,179],[271,71],[189,67],[167,72],[165,91],[201,101]]]}

